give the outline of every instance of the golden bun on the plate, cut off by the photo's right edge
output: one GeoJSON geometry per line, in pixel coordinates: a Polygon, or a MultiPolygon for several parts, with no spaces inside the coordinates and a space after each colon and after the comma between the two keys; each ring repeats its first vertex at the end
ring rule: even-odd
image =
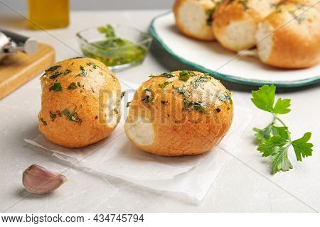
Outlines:
{"type": "MultiPolygon", "coordinates": [[[[320,5],[320,4],[319,4],[320,5]]],[[[257,56],[274,67],[295,69],[320,62],[320,9],[285,3],[265,18],[257,30],[257,56]]]]}

